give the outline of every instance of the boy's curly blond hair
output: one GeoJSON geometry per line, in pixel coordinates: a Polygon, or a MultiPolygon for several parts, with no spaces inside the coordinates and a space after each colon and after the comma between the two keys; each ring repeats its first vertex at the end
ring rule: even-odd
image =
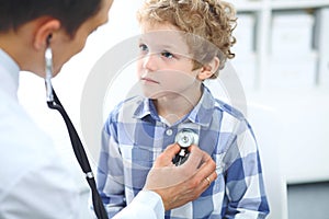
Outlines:
{"type": "MultiPolygon", "coordinates": [[[[236,43],[232,36],[237,20],[236,11],[225,1],[145,0],[144,5],[137,12],[137,20],[139,23],[169,22],[183,33],[207,42],[201,43],[195,37],[188,38],[188,45],[194,56],[194,69],[201,68],[215,56],[220,60],[219,69],[223,69],[226,60],[235,57],[230,48],[236,43]],[[209,43],[213,46],[209,46],[209,43]]],[[[217,78],[218,70],[213,78],[217,78]]]]}

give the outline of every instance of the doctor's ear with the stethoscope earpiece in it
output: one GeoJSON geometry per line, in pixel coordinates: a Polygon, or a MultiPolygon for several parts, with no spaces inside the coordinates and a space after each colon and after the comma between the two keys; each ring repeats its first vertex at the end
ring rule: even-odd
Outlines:
{"type": "Polygon", "coordinates": [[[45,19],[36,28],[33,46],[35,49],[47,47],[47,39],[60,28],[60,22],[56,19],[45,19]]]}

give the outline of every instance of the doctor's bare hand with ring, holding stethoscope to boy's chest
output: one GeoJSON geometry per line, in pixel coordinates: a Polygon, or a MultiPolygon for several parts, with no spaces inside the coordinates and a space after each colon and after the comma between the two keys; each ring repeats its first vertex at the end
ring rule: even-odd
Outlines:
{"type": "Polygon", "coordinates": [[[178,145],[169,146],[156,160],[144,189],[154,191],[162,198],[166,210],[196,199],[216,180],[216,163],[196,146],[190,147],[186,162],[175,166],[172,158],[178,145]]]}

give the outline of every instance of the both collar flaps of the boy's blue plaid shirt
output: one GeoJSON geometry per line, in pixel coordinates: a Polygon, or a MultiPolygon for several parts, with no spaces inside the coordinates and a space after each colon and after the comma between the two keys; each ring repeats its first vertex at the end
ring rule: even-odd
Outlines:
{"type": "MultiPolygon", "coordinates": [[[[200,102],[194,106],[194,108],[179,123],[189,119],[194,124],[201,126],[208,126],[212,120],[212,115],[215,106],[215,100],[205,85],[203,85],[203,94],[200,102]]],[[[145,99],[140,102],[134,113],[136,118],[146,118],[150,116],[154,120],[160,120],[160,117],[156,111],[156,107],[151,100],[145,99]]]]}

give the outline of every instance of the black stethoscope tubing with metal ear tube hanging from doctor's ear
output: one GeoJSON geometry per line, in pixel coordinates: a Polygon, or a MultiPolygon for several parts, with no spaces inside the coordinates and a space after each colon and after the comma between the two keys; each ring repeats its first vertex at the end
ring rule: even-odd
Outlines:
{"type": "Polygon", "coordinates": [[[52,84],[52,78],[53,78],[53,51],[50,48],[50,38],[52,36],[48,36],[47,38],[47,48],[45,50],[45,85],[46,85],[46,100],[47,105],[52,110],[57,110],[60,115],[63,116],[65,124],[67,126],[71,145],[73,148],[73,152],[76,154],[76,158],[82,169],[82,171],[86,174],[86,180],[91,188],[91,195],[92,195],[92,204],[93,209],[99,219],[109,219],[106,210],[104,208],[103,201],[100,197],[100,194],[97,189],[97,184],[94,180],[94,174],[92,173],[90,163],[88,161],[87,153],[84,151],[84,148],[82,146],[82,142],[79,138],[79,135],[71,123],[69,116],[67,115],[65,108],[63,107],[60,101],[58,100],[52,84]]]}

